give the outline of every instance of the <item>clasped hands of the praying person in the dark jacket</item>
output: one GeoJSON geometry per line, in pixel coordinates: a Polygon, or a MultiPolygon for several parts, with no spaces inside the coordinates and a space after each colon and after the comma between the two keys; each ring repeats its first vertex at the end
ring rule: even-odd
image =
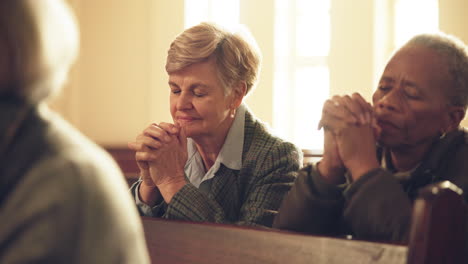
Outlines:
{"type": "Polygon", "coordinates": [[[324,129],[324,152],[318,170],[328,183],[343,183],[345,170],[355,181],[380,166],[376,157],[380,128],[372,106],[360,94],[325,101],[320,128],[324,129]]]}

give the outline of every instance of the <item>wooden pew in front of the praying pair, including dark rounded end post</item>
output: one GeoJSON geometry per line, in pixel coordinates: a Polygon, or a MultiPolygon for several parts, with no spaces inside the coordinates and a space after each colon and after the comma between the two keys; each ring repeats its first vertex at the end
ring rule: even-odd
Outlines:
{"type": "Polygon", "coordinates": [[[452,264],[465,263],[465,209],[459,190],[447,182],[424,189],[415,203],[408,246],[212,223],[142,220],[153,263],[452,264]]]}

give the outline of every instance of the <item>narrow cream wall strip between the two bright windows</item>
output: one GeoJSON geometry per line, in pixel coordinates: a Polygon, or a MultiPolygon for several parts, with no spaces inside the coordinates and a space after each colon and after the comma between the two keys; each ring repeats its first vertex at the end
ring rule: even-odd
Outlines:
{"type": "Polygon", "coordinates": [[[373,0],[333,0],[330,48],[330,93],[373,91],[373,0]],[[353,10],[353,12],[350,12],[353,10]]]}

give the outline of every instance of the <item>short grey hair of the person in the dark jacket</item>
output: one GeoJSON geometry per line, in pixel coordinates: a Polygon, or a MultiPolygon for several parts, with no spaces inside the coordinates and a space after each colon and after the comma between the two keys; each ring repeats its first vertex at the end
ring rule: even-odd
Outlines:
{"type": "Polygon", "coordinates": [[[421,45],[443,56],[452,78],[449,103],[468,106],[468,53],[466,45],[458,38],[444,33],[421,34],[410,39],[405,46],[421,45]]]}

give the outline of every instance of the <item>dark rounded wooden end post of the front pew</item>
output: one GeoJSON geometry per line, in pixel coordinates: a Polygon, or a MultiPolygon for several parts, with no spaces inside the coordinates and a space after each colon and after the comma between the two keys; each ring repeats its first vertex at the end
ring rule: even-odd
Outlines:
{"type": "Polygon", "coordinates": [[[468,263],[467,206],[449,181],[422,189],[415,201],[408,264],[468,263]]]}

